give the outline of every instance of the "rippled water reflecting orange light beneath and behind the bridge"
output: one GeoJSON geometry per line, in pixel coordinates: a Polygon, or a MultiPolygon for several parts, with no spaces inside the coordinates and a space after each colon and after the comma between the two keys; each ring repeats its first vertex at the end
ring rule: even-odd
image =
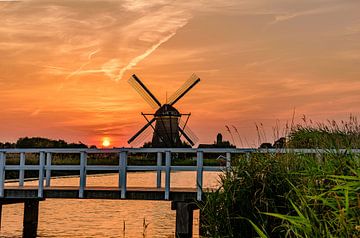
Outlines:
{"type": "MultiPolygon", "coordinates": [[[[218,173],[204,173],[204,187],[217,186],[218,173]]],[[[162,179],[164,181],[164,177],[162,179]]],[[[171,186],[195,187],[195,172],[171,174],[171,186]]],[[[87,186],[114,186],[118,176],[88,176],[87,186]]],[[[128,173],[128,186],[154,187],[156,173],[128,173]]],[[[26,185],[37,184],[26,182],[26,185]]],[[[52,179],[56,186],[76,186],[79,178],[52,179]]],[[[1,237],[21,237],[23,204],[4,205],[1,237]]],[[[194,212],[198,237],[199,213],[194,212]]],[[[40,202],[39,237],[174,237],[175,211],[167,201],[46,199],[40,202]],[[144,229],[144,223],[147,228],[144,229]]]]}

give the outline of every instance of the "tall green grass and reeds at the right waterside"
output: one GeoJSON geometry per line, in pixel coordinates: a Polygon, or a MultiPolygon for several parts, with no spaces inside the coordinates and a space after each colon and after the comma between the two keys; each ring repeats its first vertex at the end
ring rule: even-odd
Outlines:
{"type": "MultiPolygon", "coordinates": [[[[287,145],[360,148],[356,119],[340,125],[295,126],[287,145]]],[[[199,204],[206,237],[360,237],[359,154],[240,156],[220,184],[199,204]]]]}

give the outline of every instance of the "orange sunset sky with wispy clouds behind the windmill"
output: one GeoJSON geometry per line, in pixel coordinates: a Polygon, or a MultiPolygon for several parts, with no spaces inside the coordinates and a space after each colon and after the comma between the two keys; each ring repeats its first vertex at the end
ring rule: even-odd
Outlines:
{"type": "Polygon", "coordinates": [[[201,77],[177,108],[202,143],[235,125],[237,145],[254,146],[255,123],[272,141],[294,108],[297,120],[359,115],[360,1],[194,2],[0,1],[0,141],[128,146],[152,112],[133,73],[162,102],[201,77]]]}

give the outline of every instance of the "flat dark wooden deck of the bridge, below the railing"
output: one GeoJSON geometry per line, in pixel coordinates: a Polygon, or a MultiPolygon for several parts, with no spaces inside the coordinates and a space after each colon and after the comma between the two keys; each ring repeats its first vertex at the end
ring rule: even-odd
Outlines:
{"type": "MultiPolygon", "coordinates": [[[[196,199],[196,188],[171,188],[169,200],[184,201],[196,199]]],[[[38,198],[37,186],[6,186],[6,199],[38,198]]],[[[165,189],[156,187],[127,187],[126,199],[133,200],[164,200],[165,189]]],[[[4,199],[3,198],[3,199],[4,199]]],[[[45,187],[43,197],[61,199],[79,199],[78,186],[45,187]]],[[[121,199],[121,189],[118,187],[86,187],[85,199],[121,199]]],[[[1,199],[0,199],[1,200],[1,199]]]]}

